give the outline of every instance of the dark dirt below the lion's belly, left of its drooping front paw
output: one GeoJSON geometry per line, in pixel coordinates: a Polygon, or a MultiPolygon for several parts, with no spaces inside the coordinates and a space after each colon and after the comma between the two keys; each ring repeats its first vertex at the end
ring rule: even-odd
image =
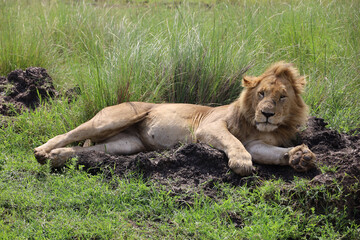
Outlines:
{"type": "Polygon", "coordinates": [[[91,173],[104,171],[110,176],[136,171],[161,184],[170,184],[172,190],[176,191],[208,181],[224,181],[226,175],[232,175],[227,161],[223,152],[200,143],[130,156],[113,156],[101,152],[78,155],[78,164],[84,165],[91,173]]]}

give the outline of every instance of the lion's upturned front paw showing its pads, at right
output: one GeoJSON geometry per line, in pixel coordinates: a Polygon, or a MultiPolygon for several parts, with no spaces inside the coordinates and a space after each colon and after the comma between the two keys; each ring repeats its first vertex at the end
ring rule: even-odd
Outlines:
{"type": "Polygon", "coordinates": [[[288,156],[289,165],[298,172],[306,172],[315,167],[316,156],[305,144],[291,149],[288,156]]]}

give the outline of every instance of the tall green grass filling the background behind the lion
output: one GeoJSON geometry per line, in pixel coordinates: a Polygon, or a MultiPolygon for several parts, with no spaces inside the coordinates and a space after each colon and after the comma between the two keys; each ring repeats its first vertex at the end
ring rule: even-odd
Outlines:
{"type": "Polygon", "coordinates": [[[48,68],[82,87],[88,117],[128,100],[226,104],[247,66],[286,60],[308,75],[312,114],[359,126],[357,1],[0,4],[0,72],[48,68]]]}

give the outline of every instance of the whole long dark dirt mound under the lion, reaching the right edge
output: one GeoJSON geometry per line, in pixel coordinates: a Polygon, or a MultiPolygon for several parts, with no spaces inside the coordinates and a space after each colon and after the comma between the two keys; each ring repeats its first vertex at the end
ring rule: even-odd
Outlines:
{"type": "MultiPolygon", "coordinates": [[[[311,180],[309,189],[325,184],[329,192],[334,192],[340,187],[341,196],[333,204],[346,206],[352,218],[360,217],[360,135],[340,134],[326,125],[323,119],[312,117],[308,128],[299,134],[297,144],[307,144],[317,155],[318,167],[306,173],[298,173],[288,166],[255,164],[253,176],[240,177],[229,169],[223,152],[200,143],[130,156],[92,152],[78,156],[78,164],[90,173],[103,172],[108,177],[140,172],[174,194],[201,188],[213,198],[216,198],[217,182],[249,186],[261,184],[266,179],[281,178],[291,184],[295,177],[307,178],[311,180]]],[[[322,205],[321,202],[311,204],[322,205]]]]}

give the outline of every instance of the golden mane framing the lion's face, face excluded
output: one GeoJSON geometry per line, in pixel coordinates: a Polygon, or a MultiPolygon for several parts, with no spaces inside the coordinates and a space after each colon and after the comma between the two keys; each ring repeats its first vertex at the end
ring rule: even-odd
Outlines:
{"type": "Polygon", "coordinates": [[[237,101],[233,103],[234,119],[230,121],[230,125],[237,125],[231,127],[232,129],[241,129],[242,131],[245,129],[247,131],[246,135],[255,132],[259,133],[254,123],[256,107],[254,106],[254,96],[259,83],[269,78],[287,79],[295,92],[294,98],[290,99],[291,108],[289,114],[285,116],[284,121],[278,128],[272,132],[280,145],[290,146],[291,140],[294,139],[299,127],[305,125],[308,118],[308,107],[301,97],[306,80],[304,76],[300,76],[298,70],[292,64],[278,62],[270,66],[259,77],[245,76],[243,79],[244,89],[237,101]]]}

